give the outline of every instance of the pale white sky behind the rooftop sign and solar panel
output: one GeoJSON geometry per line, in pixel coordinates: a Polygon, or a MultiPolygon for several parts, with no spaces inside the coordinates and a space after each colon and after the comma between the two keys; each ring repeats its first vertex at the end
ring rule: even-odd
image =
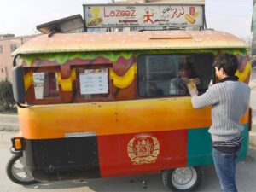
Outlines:
{"type": "MultiPolygon", "coordinates": [[[[36,26],[80,14],[83,4],[109,0],[0,0],[0,33],[16,36],[36,32],[36,26]]],[[[251,37],[253,0],[205,0],[207,27],[230,32],[248,40],[251,37]]]]}

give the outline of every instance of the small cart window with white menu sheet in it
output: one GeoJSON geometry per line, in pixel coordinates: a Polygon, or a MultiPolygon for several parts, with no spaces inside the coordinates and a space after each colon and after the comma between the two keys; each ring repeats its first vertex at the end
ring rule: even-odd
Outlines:
{"type": "Polygon", "coordinates": [[[109,94],[108,68],[77,69],[79,96],[84,99],[106,97],[109,94]]]}

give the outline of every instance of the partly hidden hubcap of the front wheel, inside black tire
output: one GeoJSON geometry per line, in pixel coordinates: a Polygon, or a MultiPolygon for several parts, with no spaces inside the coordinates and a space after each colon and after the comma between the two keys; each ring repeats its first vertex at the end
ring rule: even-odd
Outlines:
{"type": "Polygon", "coordinates": [[[20,157],[20,159],[15,161],[15,163],[12,166],[12,174],[16,179],[20,180],[21,182],[31,182],[34,179],[28,176],[24,171],[22,160],[23,157],[20,157]]]}

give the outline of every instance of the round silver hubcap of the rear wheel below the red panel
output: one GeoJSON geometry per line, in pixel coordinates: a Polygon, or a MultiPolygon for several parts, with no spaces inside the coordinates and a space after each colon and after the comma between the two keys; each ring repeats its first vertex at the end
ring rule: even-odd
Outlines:
{"type": "Polygon", "coordinates": [[[177,189],[189,189],[197,180],[197,174],[193,167],[177,168],[172,172],[172,184],[177,189]]]}

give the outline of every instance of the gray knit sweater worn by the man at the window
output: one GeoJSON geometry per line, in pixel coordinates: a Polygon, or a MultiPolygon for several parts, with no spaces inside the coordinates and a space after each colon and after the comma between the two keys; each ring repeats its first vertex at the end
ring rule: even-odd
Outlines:
{"type": "Polygon", "coordinates": [[[192,96],[194,108],[212,106],[212,141],[229,141],[239,137],[243,125],[241,116],[248,108],[250,88],[240,81],[213,84],[201,96],[192,96]]]}

